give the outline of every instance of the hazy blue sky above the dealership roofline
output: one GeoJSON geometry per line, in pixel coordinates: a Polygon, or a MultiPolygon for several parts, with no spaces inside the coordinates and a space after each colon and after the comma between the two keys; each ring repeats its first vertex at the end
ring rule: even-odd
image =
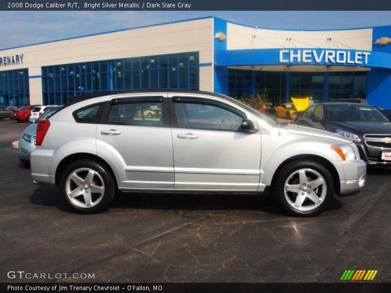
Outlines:
{"type": "Polygon", "coordinates": [[[282,29],[391,25],[391,11],[0,11],[0,49],[204,16],[282,29]]]}

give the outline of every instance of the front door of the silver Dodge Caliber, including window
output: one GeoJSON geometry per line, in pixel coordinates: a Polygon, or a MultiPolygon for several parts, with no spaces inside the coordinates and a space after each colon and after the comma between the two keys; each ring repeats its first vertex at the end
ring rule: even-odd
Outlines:
{"type": "Polygon", "coordinates": [[[248,115],[212,98],[169,97],[172,97],[174,187],[257,190],[261,134],[238,130],[248,115]]]}

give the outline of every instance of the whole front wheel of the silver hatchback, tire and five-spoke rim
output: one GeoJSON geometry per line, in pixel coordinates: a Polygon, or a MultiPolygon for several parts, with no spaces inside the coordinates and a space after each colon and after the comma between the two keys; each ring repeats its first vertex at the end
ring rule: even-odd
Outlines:
{"type": "Polygon", "coordinates": [[[334,180],[322,164],[300,160],[284,166],[273,185],[282,208],[295,216],[315,216],[327,208],[334,196],[334,180]]]}

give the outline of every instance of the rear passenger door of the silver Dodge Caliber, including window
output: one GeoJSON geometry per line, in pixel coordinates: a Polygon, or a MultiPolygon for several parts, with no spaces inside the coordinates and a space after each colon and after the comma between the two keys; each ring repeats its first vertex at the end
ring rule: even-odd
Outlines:
{"type": "MultiPolygon", "coordinates": [[[[125,161],[126,180],[121,182],[121,188],[174,188],[167,98],[132,96],[115,98],[110,104],[106,121],[97,126],[96,137],[125,161]]],[[[98,152],[99,147],[97,144],[98,152]]]]}

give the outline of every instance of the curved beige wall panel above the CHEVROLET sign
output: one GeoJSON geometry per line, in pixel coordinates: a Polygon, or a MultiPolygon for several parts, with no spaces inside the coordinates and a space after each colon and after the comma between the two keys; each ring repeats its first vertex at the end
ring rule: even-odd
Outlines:
{"type": "Polygon", "coordinates": [[[227,23],[227,49],[333,48],[372,50],[372,29],[336,31],[271,30],[227,23]],[[331,41],[327,39],[331,38],[331,41]]]}

